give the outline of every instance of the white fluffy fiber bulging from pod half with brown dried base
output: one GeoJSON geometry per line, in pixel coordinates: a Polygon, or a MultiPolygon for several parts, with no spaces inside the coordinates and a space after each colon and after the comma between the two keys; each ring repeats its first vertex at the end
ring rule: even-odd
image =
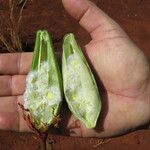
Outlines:
{"type": "Polygon", "coordinates": [[[49,71],[51,71],[51,68],[48,63],[43,62],[40,68],[40,70],[30,71],[28,74],[26,79],[27,87],[24,93],[24,107],[32,110],[35,116],[41,113],[40,107],[52,106],[61,101],[59,87],[53,81],[52,84],[49,84],[49,80],[51,80],[51,76],[49,78],[49,71]]]}

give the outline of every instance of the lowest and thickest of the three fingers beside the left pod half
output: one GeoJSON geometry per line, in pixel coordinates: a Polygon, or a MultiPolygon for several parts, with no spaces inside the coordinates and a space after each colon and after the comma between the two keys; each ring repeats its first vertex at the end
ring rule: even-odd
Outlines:
{"type": "Polygon", "coordinates": [[[23,103],[22,96],[0,97],[0,129],[31,131],[22,117],[18,102],[23,103]]]}

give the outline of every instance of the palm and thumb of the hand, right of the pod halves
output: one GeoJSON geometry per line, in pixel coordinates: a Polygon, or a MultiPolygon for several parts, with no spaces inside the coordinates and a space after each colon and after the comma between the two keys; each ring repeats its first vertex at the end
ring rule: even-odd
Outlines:
{"type": "Polygon", "coordinates": [[[74,135],[110,137],[148,123],[150,64],[143,52],[92,2],[62,1],[69,14],[91,35],[85,53],[105,89],[101,93],[103,112],[97,128],[87,129],[80,124],[80,128],[73,128],[74,135]]]}

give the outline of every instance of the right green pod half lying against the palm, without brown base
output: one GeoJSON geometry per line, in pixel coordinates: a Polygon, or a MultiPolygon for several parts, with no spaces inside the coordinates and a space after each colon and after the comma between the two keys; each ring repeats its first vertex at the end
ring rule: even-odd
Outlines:
{"type": "Polygon", "coordinates": [[[71,33],[64,38],[62,74],[71,112],[87,128],[94,128],[101,111],[101,99],[91,69],[71,33]]]}

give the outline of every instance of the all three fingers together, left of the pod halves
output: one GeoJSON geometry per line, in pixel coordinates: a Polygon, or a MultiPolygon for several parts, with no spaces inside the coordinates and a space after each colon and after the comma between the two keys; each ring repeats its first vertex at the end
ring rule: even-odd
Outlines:
{"type": "Polygon", "coordinates": [[[0,129],[31,131],[18,106],[31,61],[31,53],[0,54],[0,129]]]}

